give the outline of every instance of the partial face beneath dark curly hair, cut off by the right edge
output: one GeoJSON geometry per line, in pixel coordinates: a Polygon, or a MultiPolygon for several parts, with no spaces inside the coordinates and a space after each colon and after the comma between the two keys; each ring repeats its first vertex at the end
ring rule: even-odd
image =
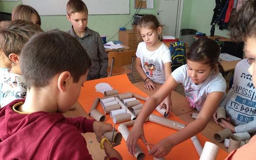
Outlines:
{"type": "Polygon", "coordinates": [[[253,76],[253,84],[256,86],[256,37],[247,38],[245,41],[245,55],[251,63],[248,71],[253,76]]]}

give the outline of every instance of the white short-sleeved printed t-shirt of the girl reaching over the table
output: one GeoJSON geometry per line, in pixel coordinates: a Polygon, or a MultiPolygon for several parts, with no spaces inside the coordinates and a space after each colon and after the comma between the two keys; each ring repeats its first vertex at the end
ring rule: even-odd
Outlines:
{"type": "Polygon", "coordinates": [[[226,90],[226,81],[221,73],[209,75],[203,83],[196,85],[191,81],[188,74],[188,65],[182,65],[175,69],[171,75],[177,83],[181,83],[185,90],[187,100],[192,108],[201,110],[207,95],[212,92],[226,90]]]}

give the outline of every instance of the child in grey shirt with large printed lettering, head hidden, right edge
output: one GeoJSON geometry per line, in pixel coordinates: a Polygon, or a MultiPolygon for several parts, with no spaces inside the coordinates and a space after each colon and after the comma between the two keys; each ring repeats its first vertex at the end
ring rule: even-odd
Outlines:
{"type": "MultiPolygon", "coordinates": [[[[247,52],[245,52],[246,57],[247,52]]],[[[217,121],[217,113],[213,115],[214,121],[233,133],[249,132],[256,134],[256,88],[252,82],[252,75],[248,68],[253,60],[248,58],[236,64],[232,88],[220,106],[226,109],[226,121],[217,121]]]]}

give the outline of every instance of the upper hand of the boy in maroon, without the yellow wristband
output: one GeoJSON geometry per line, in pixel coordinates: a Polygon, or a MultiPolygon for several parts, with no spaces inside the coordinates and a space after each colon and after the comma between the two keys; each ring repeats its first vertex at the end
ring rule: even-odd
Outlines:
{"type": "MultiPolygon", "coordinates": [[[[112,131],[113,127],[111,124],[94,121],[93,129],[96,134],[97,141],[100,142],[100,140],[102,139],[102,135],[107,131],[112,131]]],[[[115,131],[116,131],[116,129],[115,129],[115,131]]]]}

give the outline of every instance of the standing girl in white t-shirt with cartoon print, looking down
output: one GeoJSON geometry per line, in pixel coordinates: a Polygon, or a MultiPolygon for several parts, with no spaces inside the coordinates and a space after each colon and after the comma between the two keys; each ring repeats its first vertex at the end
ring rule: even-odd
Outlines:
{"type": "MultiPolygon", "coordinates": [[[[138,22],[138,32],[143,42],[136,51],[136,70],[144,79],[144,87],[155,90],[155,83],[163,84],[171,74],[171,55],[168,47],[160,41],[160,23],[156,16],[145,15],[138,22]]],[[[168,95],[160,106],[166,104],[170,114],[170,96],[168,95]]]]}

